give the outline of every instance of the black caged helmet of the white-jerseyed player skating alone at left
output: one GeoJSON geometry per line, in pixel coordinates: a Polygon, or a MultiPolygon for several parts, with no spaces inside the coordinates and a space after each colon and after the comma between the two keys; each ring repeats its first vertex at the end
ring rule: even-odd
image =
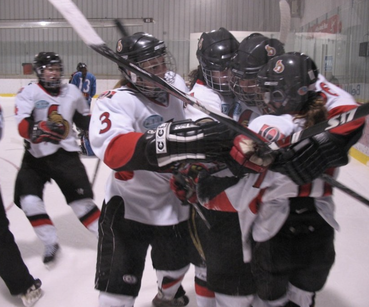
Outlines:
{"type": "Polygon", "coordinates": [[[35,55],[33,60],[33,70],[37,74],[39,79],[39,83],[46,89],[58,89],[61,85],[62,77],[63,77],[63,64],[62,60],[54,52],[40,52],[35,55]],[[59,66],[60,76],[53,77],[51,80],[45,80],[44,70],[48,66],[59,66]]]}

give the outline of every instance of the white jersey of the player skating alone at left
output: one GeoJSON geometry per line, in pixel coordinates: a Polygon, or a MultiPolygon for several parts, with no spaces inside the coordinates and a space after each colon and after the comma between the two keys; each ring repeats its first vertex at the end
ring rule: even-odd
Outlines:
{"type": "Polygon", "coordinates": [[[76,133],[72,129],[75,112],[87,116],[90,109],[80,90],[73,84],[62,84],[58,96],[48,94],[39,84],[30,84],[22,88],[15,97],[15,120],[18,128],[25,118],[32,117],[34,122],[48,119],[62,120],[68,129],[68,134],[59,144],[30,142],[29,151],[36,158],[53,154],[59,148],[66,151],[80,151],[76,142],[76,133]]]}

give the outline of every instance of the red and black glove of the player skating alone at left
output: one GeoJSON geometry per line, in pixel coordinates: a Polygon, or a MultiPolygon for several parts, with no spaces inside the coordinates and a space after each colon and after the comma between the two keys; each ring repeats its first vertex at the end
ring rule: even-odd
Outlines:
{"type": "Polygon", "coordinates": [[[41,142],[58,144],[62,139],[65,139],[65,131],[63,123],[39,121],[31,126],[30,139],[35,144],[41,142]]]}

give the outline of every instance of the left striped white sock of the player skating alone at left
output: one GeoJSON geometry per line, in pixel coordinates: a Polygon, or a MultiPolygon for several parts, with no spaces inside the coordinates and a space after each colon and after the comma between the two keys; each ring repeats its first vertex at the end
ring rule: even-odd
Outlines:
{"type": "Polygon", "coordinates": [[[20,197],[21,208],[30,221],[37,237],[44,245],[58,242],[56,228],[46,213],[45,204],[36,195],[25,195],[20,197]]]}

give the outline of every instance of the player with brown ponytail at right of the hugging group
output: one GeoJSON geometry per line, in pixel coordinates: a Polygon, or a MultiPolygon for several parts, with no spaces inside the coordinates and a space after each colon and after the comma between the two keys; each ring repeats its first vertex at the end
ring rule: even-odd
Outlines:
{"type": "MultiPolygon", "coordinates": [[[[269,141],[356,107],[351,95],[328,83],[315,63],[297,52],[270,60],[258,74],[258,88],[261,109],[273,115],[254,119],[249,128],[269,141]]],[[[314,306],[315,292],[324,286],[334,262],[338,225],[332,188],[313,174],[315,168],[334,174],[330,167],[347,163],[347,151],[360,137],[363,122],[302,141],[277,156],[274,164],[274,157],[258,155],[248,137],[235,138],[231,156],[249,174],[225,192],[239,214],[245,261],[251,258],[252,232],[258,294],[254,307],[314,306]],[[274,171],[266,171],[268,166],[274,171]],[[301,170],[306,173],[301,175],[301,170]],[[264,172],[261,183],[259,172],[264,172]],[[299,186],[282,172],[294,181],[314,180],[299,186]]],[[[211,206],[206,200],[202,204],[211,206]]]]}

